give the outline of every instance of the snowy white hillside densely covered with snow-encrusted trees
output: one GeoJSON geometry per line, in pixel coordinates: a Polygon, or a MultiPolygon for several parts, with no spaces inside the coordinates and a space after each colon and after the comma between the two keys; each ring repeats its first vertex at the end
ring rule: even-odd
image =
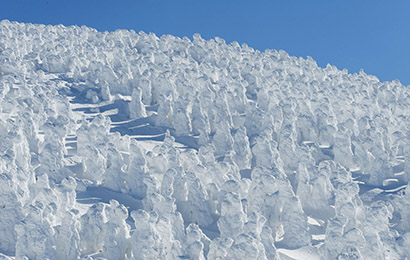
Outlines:
{"type": "Polygon", "coordinates": [[[0,259],[406,259],[410,91],[222,39],[0,22],[0,259]]]}

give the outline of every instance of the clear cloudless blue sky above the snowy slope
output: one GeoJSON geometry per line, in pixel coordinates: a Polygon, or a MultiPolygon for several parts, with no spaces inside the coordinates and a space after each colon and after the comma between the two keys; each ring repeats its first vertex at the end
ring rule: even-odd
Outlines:
{"type": "Polygon", "coordinates": [[[409,0],[1,0],[3,19],[158,36],[198,32],[410,84],[409,0]]]}

